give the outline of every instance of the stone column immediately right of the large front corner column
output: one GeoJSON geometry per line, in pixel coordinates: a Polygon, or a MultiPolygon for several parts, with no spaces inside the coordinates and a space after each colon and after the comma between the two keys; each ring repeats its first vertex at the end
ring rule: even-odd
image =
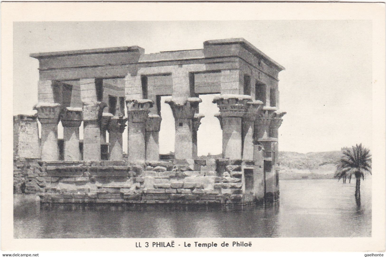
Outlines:
{"type": "Polygon", "coordinates": [[[247,112],[242,118],[242,139],[243,139],[243,160],[253,160],[254,140],[253,130],[254,122],[262,109],[263,103],[259,100],[247,103],[247,112]]]}

